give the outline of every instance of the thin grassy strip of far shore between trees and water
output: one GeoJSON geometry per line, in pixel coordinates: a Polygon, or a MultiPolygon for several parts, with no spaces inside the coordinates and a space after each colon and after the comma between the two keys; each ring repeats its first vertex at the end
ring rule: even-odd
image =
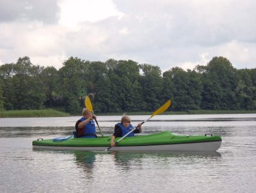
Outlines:
{"type": "MultiPolygon", "coordinates": [[[[123,113],[96,113],[98,116],[122,115],[123,113]]],[[[152,115],[153,112],[128,112],[127,115],[152,115]]],[[[162,115],[207,115],[207,114],[252,114],[256,111],[239,111],[239,110],[189,110],[189,111],[165,111],[162,115]]],[[[0,111],[0,118],[18,118],[18,117],[61,117],[61,116],[80,116],[70,115],[54,109],[41,110],[20,110],[20,111],[0,111]]]]}

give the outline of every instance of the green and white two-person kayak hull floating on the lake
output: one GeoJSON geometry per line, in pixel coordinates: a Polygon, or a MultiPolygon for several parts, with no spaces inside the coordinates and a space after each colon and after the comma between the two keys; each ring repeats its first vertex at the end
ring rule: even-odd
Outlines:
{"type": "MultiPolygon", "coordinates": [[[[105,151],[111,137],[73,138],[63,140],[38,139],[32,142],[34,149],[105,151]]],[[[118,140],[118,138],[116,139],[118,140]]],[[[123,138],[116,147],[109,151],[217,151],[221,145],[220,136],[186,136],[169,131],[123,138]]]]}

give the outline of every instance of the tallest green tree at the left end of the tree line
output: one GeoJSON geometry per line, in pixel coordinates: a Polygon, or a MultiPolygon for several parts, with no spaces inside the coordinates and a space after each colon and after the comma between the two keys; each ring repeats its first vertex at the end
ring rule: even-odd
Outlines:
{"type": "Polygon", "coordinates": [[[8,71],[5,73],[5,109],[43,108],[45,92],[39,78],[41,68],[34,66],[28,57],[23,57],[6,69],[8,71]]]}

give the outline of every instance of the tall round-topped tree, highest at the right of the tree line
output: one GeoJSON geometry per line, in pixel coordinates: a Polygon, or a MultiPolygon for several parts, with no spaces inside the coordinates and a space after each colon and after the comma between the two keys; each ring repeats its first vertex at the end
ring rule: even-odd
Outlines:
{"type": "Polygon", "coordinates": [[[203,73],[203,109],[236,109],[237,71],[224,57],[213,57],[203,73]]]}

